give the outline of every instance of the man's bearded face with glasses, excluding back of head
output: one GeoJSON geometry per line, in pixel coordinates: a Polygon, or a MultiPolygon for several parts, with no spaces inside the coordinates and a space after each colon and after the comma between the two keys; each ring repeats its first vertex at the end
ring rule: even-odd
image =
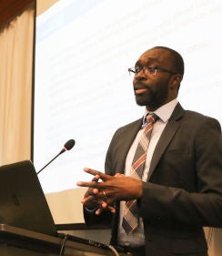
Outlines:
{"type": "Polygon", "coordinates": [[[135,74],[133,80],[136,103],[139,106],[155,110],[177,97],[175,90],[172,90],[170,86],[173,75],[161,69],[155,69],[155,67],[172,69],[168,52],[155,48],[150,49],[139,57],[135,67],[140,70],[135,74]]]}

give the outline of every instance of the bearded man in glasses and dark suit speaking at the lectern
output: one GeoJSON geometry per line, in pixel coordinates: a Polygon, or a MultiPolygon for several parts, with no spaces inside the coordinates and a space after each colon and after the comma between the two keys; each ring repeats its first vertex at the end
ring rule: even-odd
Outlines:
{"type": "Polygon", "coordinates": [[[220,125],[177,102],[184,62],[175,50],[151,48],[129,71],[145,115],[116,131],[106,154],[106,174],[85,169],[94,179],[77,182],[89,187],[82,200],[86,224],[110,223],[113,215],[111,243],[134,256],[207,256],[203,227],[222,227],[220,125]],[[147,124],[146,115],[153,113],[156,122],[147,124]],[[140,142],[147,126],[151,137],[140,142]],[[139,178],[140,163],[132,166],[136,148],[145,144],[139,178]]]}

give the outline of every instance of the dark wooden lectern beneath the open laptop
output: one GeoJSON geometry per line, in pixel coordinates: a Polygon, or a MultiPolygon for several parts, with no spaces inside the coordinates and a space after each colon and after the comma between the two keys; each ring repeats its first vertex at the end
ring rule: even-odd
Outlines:
{"type": "Polygon", "coordinates": [[[68,236],[55,237],[32,230],[25,230],[6,224],[0,224],[1,256],[125,256],[108,246],[100,247],[81,241],[74,241],[68,236]]]}

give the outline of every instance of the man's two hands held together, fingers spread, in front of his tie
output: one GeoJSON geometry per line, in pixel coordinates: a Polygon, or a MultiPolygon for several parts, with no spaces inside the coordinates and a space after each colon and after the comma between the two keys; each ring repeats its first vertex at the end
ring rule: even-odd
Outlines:
{"type": "Polygon", "coordinates": [[[116,173],[115,176],[106,175],[95,169],[84,169],[87,173],[94,175],[91,181],[78,181],[79,187],[88,187],[82,203],[87,208],[96,208],[96,214],[103,210],[116,210],[112,206],[116,200],[135,200],[142,196],[142,181],[123,174],[116,173]],[[102,181],[99,181],[101,179],[102,181]]]}

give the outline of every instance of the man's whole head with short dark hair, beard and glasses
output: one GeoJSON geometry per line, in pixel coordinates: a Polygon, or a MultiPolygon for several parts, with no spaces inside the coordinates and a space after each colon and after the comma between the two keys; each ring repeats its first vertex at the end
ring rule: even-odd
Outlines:
{"type": "Polygon", "coordinates": [[[136,103],[154,111],[177,97],[184,61],[175,50],[156,46],[138,58],[133,72],[136,103]]]}

